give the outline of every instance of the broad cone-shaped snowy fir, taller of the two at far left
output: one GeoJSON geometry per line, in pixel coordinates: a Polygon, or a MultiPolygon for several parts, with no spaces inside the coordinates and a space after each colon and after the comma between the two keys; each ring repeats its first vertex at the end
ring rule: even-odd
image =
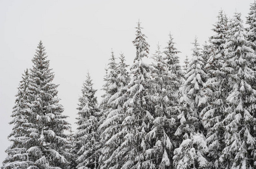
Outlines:
{"type": "Polygon", "coordinates": [[[49,68],[41,41],[32,62],[25,92],[27,106],[24,108],[25,114],[21,113],[24,119],[19,128],[25,130],[23,136],[20,135],[24,140],[19,140],[24,144],[21,153],[25,153],[21,159],[26,161],[24,166],[28,169],[68,168],[71,154],[66,150],[70,143],[64,131],[70,129],[70,124],[66,121],[67,116],[62,114],[63,106],[57,97],[58,85],[52,82],[54,73],[49,68]]]}

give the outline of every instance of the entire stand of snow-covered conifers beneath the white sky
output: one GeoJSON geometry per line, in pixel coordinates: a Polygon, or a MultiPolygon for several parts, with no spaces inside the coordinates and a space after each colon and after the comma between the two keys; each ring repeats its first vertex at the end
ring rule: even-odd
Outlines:
{"type": "Polygon", "coordinates": [[[220,10],[213,35],[205,44],[192,39],[184,63],[171,33],[149,51],[138,21],[133,63],[106,54],[101,99],[85,74],[77,128],[63,114],[40,41],[8,112],[2,169],[256,168],[256,2],[248,8],[245,21],[220,10]]]}

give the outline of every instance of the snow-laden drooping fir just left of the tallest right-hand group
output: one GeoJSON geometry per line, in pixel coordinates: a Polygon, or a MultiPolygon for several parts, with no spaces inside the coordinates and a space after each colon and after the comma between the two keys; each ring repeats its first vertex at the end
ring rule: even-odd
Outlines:
{"type": "Polygon", "coordinates": [[[178,115],[179,127],[175,135],[180,139],[179,148],[175,149],[173,164],[175,168],[208,168],[205,157],[208,148],[203,135],[200,105],[206,73],[203,72],[203,58],[195,39],[192,59],[185,74],[185,83],[180,98],[181,113],[178,115]]]}

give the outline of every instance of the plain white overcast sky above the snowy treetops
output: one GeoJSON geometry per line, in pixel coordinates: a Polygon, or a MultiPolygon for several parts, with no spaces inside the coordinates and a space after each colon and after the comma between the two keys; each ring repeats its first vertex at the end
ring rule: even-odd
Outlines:
{"type": "MultiPolygon", "coordinates": [[[[183,63],[198,37],[202,45],[213,34],[212,24],[220,9],[228,17],[235,11],[248,15],[253,0],[159,0],[159,1],[0,1],[0,163],[10,146],[12,107],[21,73],[32,67],[38,42],[46,47],[50,68],[55,72],[64,114],[76,126],[77,99],[89,71],[94,88],[102,88],[111,48],[116,57],[122,51],[132,64],[136,23],[148,37],[150,54],[156,45],[166,47],[171,32],[183,63]]],[[[100,97],[102,91],[97,92],[100,97]]],[[[1,166],[2,164],[0,164],[1,166]]]]}

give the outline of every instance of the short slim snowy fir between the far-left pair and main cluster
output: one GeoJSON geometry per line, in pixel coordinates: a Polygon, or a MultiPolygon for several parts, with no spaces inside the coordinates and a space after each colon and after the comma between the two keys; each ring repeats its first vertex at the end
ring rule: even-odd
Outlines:
{"type": "Polygon", "coordinates": [[[79,98],[77,110],[77,132],[75,134],[75,148],[77,153],[76,168],[97,168],[99,144],[98,129],[98,102],[95,96],[92,79],[88,73],[82,87],[82,96],[79,98]]]}

